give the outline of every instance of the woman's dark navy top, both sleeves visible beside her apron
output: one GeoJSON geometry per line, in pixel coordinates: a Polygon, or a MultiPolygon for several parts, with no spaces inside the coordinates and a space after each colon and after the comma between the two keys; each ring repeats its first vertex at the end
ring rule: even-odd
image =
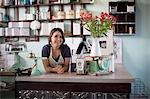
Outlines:
{"type": "MultiPolygon", "coordinates": [[[[49,44],[46,44],[45,46],[43,46],[43,48],[42,48],[42,57],[49,58],[50,47],[51,47],[51,45],[49,45],[49,44]]],[[[60,50],[61,50],[61,54],[62,54],[63,58],[70,58],[71,57],[70,48],[67,44],[63,44],[60,47],[60,50]]]]}

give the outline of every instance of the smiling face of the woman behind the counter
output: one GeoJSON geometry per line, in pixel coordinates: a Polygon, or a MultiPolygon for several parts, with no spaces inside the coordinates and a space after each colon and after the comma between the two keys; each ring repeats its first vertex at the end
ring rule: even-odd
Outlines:
{"type": "Polygon", "coordinates": [[[61,33],[59,31],[54,32],[51,37],[51,45],[53,47],[60,47],[62,43],[63,43],[63,38],[61,33]]]}

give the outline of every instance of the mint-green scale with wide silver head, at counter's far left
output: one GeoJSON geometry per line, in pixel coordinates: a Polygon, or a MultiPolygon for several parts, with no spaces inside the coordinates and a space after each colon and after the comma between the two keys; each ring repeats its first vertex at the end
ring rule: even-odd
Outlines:
{"type": "Polygon", "coordinates": [[[27,46],[24,42],[9,42],[9,43],[6,43],[5,51],[9,54],[10,53],[15,54],[15,63],[10,68],[10,71],[16,72],[16,70],[18,68],[23,67],[22,64],[20,63],[19,53],[27,51],[27,46]]]}

